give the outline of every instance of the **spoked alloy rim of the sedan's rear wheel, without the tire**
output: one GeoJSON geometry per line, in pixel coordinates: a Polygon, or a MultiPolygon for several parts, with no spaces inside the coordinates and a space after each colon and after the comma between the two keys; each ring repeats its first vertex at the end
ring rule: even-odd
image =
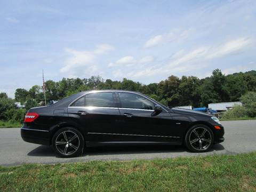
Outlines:
{"type": "Polygon", "coordinates": [[[71,155],[79,149],[80,140],[75,132],[63,131],[56,137],[55,146],[62,155],[71,155]]]}

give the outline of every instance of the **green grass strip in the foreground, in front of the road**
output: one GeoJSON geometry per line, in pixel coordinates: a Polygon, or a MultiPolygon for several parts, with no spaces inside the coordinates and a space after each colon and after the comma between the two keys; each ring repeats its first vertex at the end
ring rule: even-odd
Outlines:
{"type": "Polygon", "coordinates": [[[0,166],[0,191],[256,191],[256,153],[0,166]]]}

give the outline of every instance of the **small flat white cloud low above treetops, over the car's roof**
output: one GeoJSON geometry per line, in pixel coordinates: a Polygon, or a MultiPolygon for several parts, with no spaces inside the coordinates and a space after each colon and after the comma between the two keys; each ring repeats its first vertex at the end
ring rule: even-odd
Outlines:
{"type": "Polygon", "coordinates": [[[116,67],[116,66],[133,66],[138,63],[148,63],[154,61],[153,56],[146,56],[139,60],[134,59],[132,56],[125,56],[121,59],[118,59],[116,62],[111,62],[108,64],[108,67],[116,67]]]}

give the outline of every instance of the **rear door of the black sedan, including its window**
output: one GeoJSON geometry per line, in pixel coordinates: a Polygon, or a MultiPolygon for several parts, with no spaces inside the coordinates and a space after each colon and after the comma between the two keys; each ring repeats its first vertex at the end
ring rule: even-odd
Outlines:
{"type": "Polygon", "coordinates": [[[68,107],[69,116],[75,116],[85,130],[86,141],[112,141],[120,115],[113,92],[84,95],[68,107]]]}

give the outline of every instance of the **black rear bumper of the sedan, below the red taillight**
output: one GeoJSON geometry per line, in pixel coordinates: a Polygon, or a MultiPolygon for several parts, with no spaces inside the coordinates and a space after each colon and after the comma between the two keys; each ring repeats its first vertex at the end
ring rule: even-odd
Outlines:
{"type": "Polygon", "coordinates": [[[46,130],[21,128],[21,138],[23,141],[40,145],[50,145],[50,134],[46,130]]]}

